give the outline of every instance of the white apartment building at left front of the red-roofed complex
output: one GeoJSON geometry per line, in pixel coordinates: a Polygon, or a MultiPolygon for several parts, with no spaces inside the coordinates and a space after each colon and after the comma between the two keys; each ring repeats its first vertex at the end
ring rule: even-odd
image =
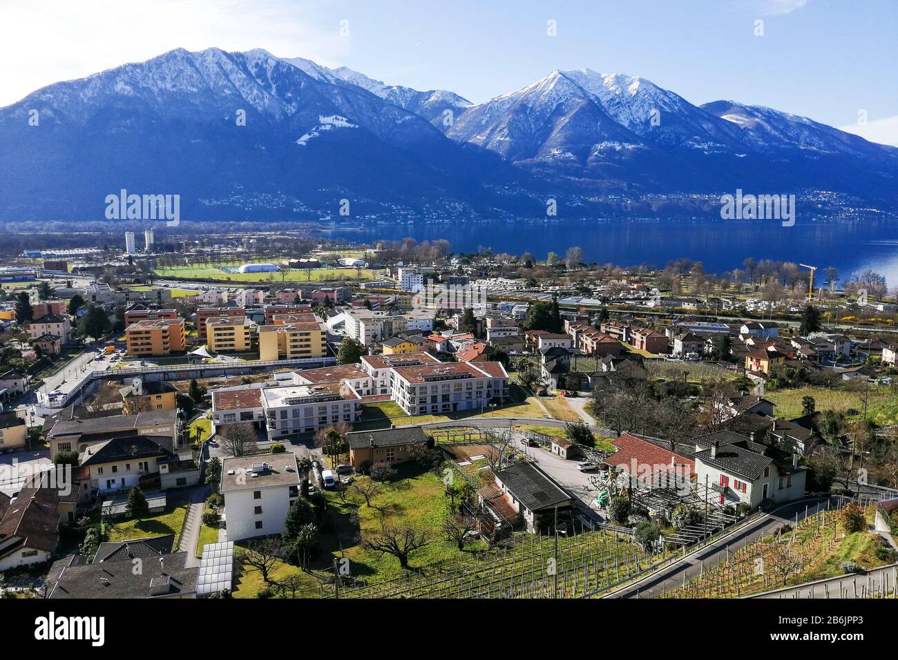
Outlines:
{"type": "Polygon", "coordinates": [[[334,424],[352,424],[362,417],[361,398],[343,383],[266,388],[262,406],[272,440],[334,424]]]}

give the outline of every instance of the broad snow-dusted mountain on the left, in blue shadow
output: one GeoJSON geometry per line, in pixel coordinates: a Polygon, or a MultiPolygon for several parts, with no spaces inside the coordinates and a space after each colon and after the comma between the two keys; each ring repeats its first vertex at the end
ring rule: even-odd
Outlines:
{"type": "Polygon", "coordinates": [[[101,219],[94,209],[123,188],[179,193],[195,214],[224,213],[235,196],[238,214],[260,197],[293,200],[285,214],[341,198],[482,206],[485,184],[518,176],[325,67],[218,48],[172,50],[0,109],[0,167],[4,219],[37,207],[101,219]]]}

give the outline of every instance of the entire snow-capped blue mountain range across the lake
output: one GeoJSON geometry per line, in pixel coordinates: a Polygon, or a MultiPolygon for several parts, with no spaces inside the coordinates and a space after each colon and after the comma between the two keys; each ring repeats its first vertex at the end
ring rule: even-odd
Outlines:
{"type": "Polygon", "coordinates": [[[898,149],[778,110],[699,107],[589,69],[471,105],[262,49],[179,48],[32,92],[0,108],[0,167],[0,221],[102,219],[120,189],[178,193],[195,219],[328,216],[344,198],[360,216],[534,216],[547,192],[816,189],[898,203],[898,149]]]}

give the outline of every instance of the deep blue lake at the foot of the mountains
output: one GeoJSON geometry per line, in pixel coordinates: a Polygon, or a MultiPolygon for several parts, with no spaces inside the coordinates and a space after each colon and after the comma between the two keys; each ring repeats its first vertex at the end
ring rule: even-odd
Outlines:
{"type": "Polygon", "coordinates": [[[318,233],[347,242],[417,241],[445,239],[453,251],[532,252],[545,258],[568,247],[583,248],[585,261],[619,266],[642,263],[663,267],[687,257],[701,261],[709,273],[742,268],[746,257],[794,261],[837,268],[850,277],[864,268],[885,275],[898,285],[898,224],[887,221],[813,222],[784,227],[779,221],[609,220],[565,223],[376,224],[364,228],[335,228],[318,233]]]}

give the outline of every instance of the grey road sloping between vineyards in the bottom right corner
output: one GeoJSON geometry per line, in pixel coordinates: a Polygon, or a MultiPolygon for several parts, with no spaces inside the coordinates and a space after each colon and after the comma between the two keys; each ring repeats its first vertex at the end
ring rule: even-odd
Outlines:
{"type": "MultiPolygon", "coordinates": [[[[693,550],[682,559],[673,564],[657,570],[655,573],[643,577],[632,585],[627,585],[620,591],[608,594],[606,598],[652,598],[665,591],[675,589],[682,585],[683,581],[689,582],[698,577],[704,567],[715,566],[721,561],[726,561],[728,552],[734,552],[745,545],[757,541],[759,538],[774,532],[780,525],[794,523],[795,516],[798,520],[805,519],[805,512],[814,515],[819,505],[824,508],[828,497],[808,497],[806,499],[780,506],[769,514],[762,515],[753,522],[730,532],[724,537],[713,541],[708,545],[693,550]]],[[[832,498],[831,507],[835,506],[837,498],[832,498]]]]}

